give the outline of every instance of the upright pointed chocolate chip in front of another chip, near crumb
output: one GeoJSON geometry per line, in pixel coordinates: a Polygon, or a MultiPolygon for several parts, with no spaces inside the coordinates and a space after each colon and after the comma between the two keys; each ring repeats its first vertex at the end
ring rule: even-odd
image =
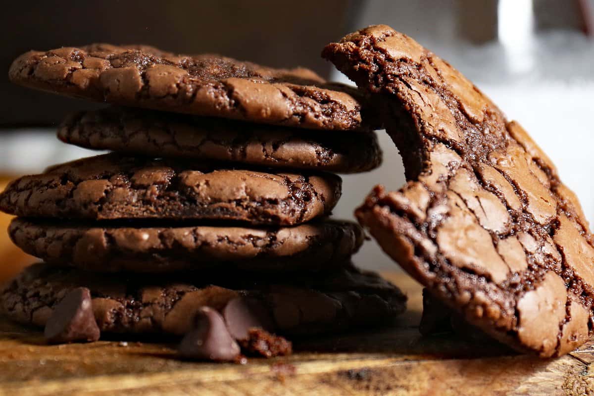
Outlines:
{"type": "Polygon", "coordinates": [[[230,362],[239,356],[239,345],[233,340],[223,317],[212,308],[200,308],[195,327],[179,344],[179,354],[188,359],[230,362]]]}

